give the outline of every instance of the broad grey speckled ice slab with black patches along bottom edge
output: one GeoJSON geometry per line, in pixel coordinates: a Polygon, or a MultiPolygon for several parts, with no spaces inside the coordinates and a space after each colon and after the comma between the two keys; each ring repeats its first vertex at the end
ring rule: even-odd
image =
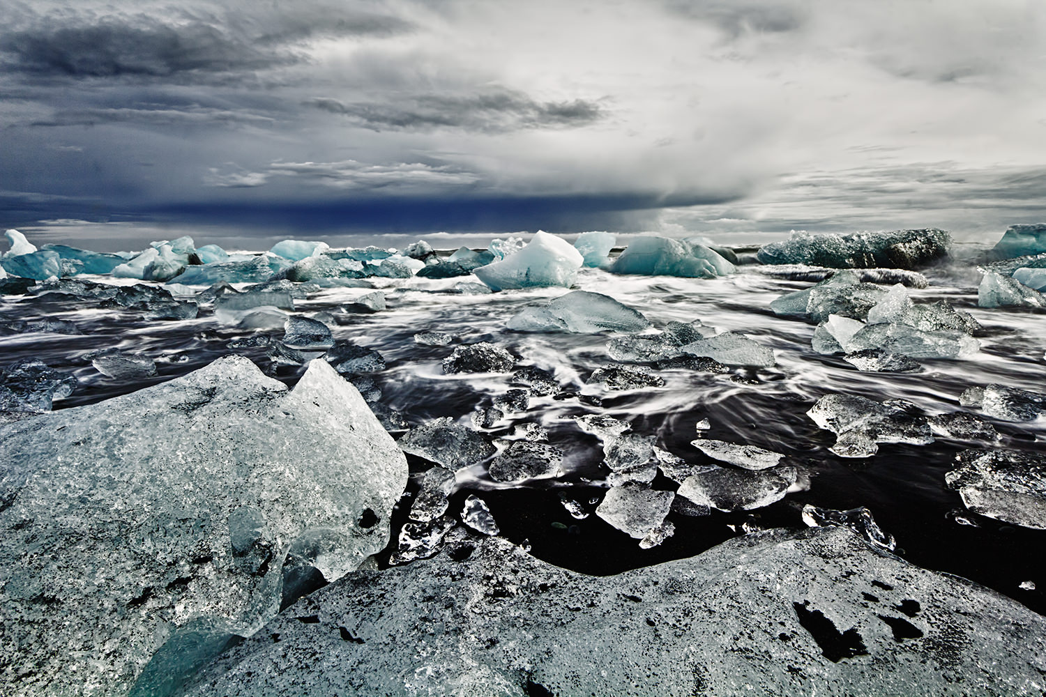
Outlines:
{"type": "Polygon", "coordinates": [[[1043,671],[1042,615],[827,527],[607,577],[460,541],[302,598],[183,694],[968,697],[1043,671]]]}

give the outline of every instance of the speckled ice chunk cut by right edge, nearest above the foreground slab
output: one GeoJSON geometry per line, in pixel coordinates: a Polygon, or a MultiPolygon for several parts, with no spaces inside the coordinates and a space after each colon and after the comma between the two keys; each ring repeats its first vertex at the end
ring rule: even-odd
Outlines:
{"type": "Polygon", "coordinates": [[[974,513],[1046,530],[1046,457],[1013,450],[963,450],[945,474],[974,513]]]}

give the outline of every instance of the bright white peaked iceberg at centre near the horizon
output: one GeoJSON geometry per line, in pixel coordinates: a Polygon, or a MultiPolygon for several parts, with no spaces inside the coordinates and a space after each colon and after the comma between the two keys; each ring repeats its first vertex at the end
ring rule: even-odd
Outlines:
{"type": "Polygon", "coordinates": [[[520,251],[501,261],[479,266],[473,273],[494,291],[543,285],[569,288],[577,278],[583,261],[581,252],[570,242],[538,231],[520,251]]]}

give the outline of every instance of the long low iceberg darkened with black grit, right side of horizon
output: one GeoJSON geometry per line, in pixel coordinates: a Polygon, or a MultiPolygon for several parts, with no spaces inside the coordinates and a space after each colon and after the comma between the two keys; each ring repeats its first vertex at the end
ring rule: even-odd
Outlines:
{"type": "Polygon", "coordinates": [[[943,230],[895,230],[859,232],[849,235],[812,235],[796,232],[792,237],[761,247],[756,258],[761,263],[804,263],[832,269],[919,269],[948,256],[951,235],[943,230]]]}

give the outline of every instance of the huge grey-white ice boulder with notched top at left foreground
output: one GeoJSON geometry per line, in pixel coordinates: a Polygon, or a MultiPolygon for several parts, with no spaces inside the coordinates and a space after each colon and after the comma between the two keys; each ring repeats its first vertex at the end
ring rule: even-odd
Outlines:
{"type": "Polygon", "coordinates": [[[288,555],[335,580],[384,548],[407,481],[322,361],[289,392],[220,358],[4,425],[0,450],[0,674],[22,695],[168,694],[276,613],[288,555]]]}

